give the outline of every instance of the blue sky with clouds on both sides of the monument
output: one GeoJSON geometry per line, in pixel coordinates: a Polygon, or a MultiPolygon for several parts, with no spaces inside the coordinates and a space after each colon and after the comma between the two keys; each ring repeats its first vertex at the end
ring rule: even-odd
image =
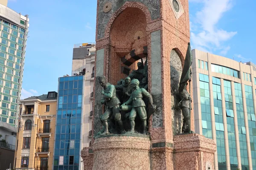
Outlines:
{"type": "MultiPolygon", "coordinates": [[[[71,74],[73,45],[95,42],[96,0],[9,0],[29,14],[22,98],[57,91],[71,74]]],[[[256,1],[189,0],[192,48],[256,63],[256,1]]]]}

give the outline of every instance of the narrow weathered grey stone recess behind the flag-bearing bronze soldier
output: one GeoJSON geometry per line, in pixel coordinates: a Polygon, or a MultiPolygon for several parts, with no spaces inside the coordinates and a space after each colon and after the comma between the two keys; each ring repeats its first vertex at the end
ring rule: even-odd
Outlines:
{"type": "Polygon", "coordinates": [[[182,73],[182,64],[180,57],[175,50],[172,50],[170,56],[170,70],[171,70],[171,110],[172,110],[172,128],[174,135],[181,133],[183,125],[183,116],[181,110],[176,110],[175,103],[178,102],[177,95],[179,94],[179,83],[182,73]]]}

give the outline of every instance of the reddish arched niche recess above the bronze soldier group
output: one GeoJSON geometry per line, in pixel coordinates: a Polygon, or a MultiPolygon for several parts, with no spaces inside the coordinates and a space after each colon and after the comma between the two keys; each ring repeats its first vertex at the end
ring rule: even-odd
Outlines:
{"type": "MultiPolygon", "coordinates": [[[[139,8],[125,8],[114,20],[110,31],[109,82],[116,84],[127,77],[123,68],[137,69],[137,62],[147,56],[147,20],[139,8]]],[[[131,73],[130,71],[130,73],[131,73]]]]}

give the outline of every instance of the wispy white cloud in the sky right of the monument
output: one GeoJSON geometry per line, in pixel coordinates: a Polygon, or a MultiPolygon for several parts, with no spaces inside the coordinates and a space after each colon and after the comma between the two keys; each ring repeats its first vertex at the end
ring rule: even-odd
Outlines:
{"type": "Polygon", "coordinates": [[[198,11],[192,20],[191,41],[193,46],[207,51],[221,50],[221,54],[227,54],[230,46],[223,48],[222,43],[230,40],[237,32],[228,32],[217,28],[216,25],[223,14],[232,8],[233,0],[190,0],[190,2],[204,3],[201,11],[198,11]]]}

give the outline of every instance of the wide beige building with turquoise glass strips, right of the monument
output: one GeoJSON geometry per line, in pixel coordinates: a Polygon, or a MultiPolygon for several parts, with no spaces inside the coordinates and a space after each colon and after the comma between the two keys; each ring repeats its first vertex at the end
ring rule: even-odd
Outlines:
{"type": "Polygon", "coordinates": [[[256,67],[193,50],[195,132],[217,144],[215,169],[256,170],[256,67]]]}

